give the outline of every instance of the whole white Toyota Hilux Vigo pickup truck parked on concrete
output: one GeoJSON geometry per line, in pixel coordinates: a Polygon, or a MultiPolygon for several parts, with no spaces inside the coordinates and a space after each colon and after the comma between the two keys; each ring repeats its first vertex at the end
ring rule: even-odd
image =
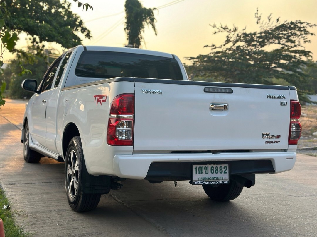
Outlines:
{"type": "MultiPolygon", "coordinates": [[[[24,159],[65,161],[75,211],[125,179],[189,180],[213,200],[257,173],[293,168],[301,106],[293,86],[189,81],[173,54],[77,46],[50,66],[26,107],[24,159]]],[[[124,183],[124,182],[123,182],[124,183]]]]}

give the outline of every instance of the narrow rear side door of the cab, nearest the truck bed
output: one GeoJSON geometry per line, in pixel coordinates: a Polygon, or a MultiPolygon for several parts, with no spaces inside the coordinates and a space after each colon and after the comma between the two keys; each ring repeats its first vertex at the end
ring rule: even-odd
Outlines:
{"type": "Polygon", "coordinates": [[[71,60],[71,56],[75,49],[65,53],[65,56],[61,60],[61,66],[58,69],[57,75],[55,77],[54,86],[49,91],[49,99],[46,106],[46,145],[50,151],[58,153],[56,147],[56,136],[57,136],[57,107],[58,97],[60,94],[60,87],[63,78],[67,76],[65,71],[68,61],[71,60]]]}

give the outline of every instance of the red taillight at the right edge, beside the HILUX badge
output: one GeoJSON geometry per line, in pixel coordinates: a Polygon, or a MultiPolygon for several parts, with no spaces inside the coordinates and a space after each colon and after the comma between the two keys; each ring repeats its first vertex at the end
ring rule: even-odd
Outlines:
{"type": "Polygon", "coordinates": [[[289,125],[288,145],[297,145],[301,137],[301,104],[296,100],[291,100],[291,116],[289,125]]]}

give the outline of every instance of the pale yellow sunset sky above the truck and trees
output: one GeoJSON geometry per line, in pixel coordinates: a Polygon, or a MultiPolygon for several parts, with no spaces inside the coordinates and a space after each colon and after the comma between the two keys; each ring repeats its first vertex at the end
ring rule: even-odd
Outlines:
{"type": "MultiPolygon", "coordinates": [[[[93,38],[84,39],[83,45],[123,47],[127,44],[124,31],[125,0],[81,0],[89,3],[94,10],[83,11],[72,3],[72,11],[80,15],[85,26],[91,30],[93,38]]],[[[273,19],[281,21],[307,21],[317,24],[316,0],[140,0],[146,8],[154,11],[157,36],[152,28],[145,28],[143,49],[176,54],[183,62],[185,57],[208,54],[205,45],[223,43],[225,35],[213,35],[214,23],[247,27],[247,32],[258,30],[254,14],[256,9],[262,19],[272,14],[273,19]],[[169,4],[170,3],[170,4],[169,4]]],[[[312,29],[317,34],[317,27],[312,29]]],[[[306,50],[313,52],[317,60],[317,36],[310,37],[312,43],[306,50]]],[[[22,46],[20,42],[19,46],[22,46]]],[[[8,57],[10,58],[10,57],[8,57]]]]}

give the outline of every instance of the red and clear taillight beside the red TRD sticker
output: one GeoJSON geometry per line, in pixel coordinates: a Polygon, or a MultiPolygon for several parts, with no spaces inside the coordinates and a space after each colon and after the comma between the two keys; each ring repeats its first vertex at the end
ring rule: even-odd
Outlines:
{"type": "Polygon", "coordinates": [[[133,146],[134,94],[120,94],[112,101],[107,130],[107,143],[133,146]]]}

